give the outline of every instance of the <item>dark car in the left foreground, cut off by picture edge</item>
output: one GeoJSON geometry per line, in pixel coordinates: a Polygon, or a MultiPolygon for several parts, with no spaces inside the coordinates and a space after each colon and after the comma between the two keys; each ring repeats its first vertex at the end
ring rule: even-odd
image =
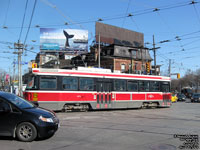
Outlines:
{"type": "Polygon", "coordinates": [[[30,142],[54,135],[59,126],[55,113],[11,93],[0,92],[0,136],[30,142]]]}

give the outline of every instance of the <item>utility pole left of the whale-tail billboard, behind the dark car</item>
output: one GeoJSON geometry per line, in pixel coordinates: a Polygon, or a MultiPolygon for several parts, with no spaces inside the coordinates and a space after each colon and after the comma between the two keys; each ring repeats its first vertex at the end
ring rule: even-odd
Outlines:
{"type": "Polygon", "coordinates": [[[18,55],[18,95],[22,96],[22,53],[23,53],[23,48],[24,45],[22,43],[20,43],[20,41],[18,40],[17,43],[14,43],[14,48],[18,50],[18,52],[16,52],[16,54],[18,55]]]}

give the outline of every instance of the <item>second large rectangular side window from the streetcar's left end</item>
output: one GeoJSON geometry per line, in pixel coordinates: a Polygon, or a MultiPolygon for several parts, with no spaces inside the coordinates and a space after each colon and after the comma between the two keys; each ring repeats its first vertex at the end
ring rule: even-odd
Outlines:
{"type": "Polygon", "coordinates": [[[63,77],[62,87],[64,90],[78,90],[78,78],[63,77]]]}

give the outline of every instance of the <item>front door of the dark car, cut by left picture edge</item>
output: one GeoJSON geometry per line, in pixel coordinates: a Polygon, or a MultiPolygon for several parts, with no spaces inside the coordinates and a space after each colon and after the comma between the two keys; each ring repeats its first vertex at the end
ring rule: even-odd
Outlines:
{"type": "Polygon", "coordinates": [[[7,101],[0,99],[0,135],[12,136],[21,113],[7,101]]]}

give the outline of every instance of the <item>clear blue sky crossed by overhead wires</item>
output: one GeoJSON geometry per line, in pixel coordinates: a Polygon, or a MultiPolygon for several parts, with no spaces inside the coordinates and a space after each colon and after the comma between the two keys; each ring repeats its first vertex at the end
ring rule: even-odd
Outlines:
{"type": "MultiPolygon", "coordinates": [[[[17,60],[13,48],[18,40],[27,44],[22,61],[35,59],[40,51],[40,28],[88,30],[90,45],[99,19],[143,33],[148,48],[153,47],[154,35],[155,47],[159,47],[156,64],[163,73],[170,60],[171,73],[181,77],[189,69],[200,68],[200,0],[0,0],[0,70],[13,73],[17,60]]],[[[27,68],[23,65],[24,72],[27,68]]]]}

